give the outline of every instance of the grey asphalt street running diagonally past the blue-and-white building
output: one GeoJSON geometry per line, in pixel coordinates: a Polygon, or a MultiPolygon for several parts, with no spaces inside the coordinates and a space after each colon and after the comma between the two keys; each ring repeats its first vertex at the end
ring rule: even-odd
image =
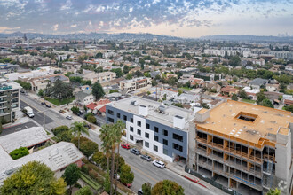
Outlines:
{"type": "MultiPolygon", "coordinates": [[[[47,108],[46,106],[41,105],[41,103],[38,102],[36,99],[27,96],[21,96],[20,107],[24,107],[27,105],[32,107],[35,112],[35,117],[33,118],[33,120],[36,121],[36,123],[45,126],[45,129],[47,130],[51,130],[60,125],[70,126],[70,124],[74,122],[74,120],[67,120],[65,118],[65,115],[57,113],[56,111],[51,110],[51,108],[47,108]]],[[[89,130],[89,133],[89,138],[100,145],[101,142],[99,140],[99,134],[92,129],[89,130]]],[[[134,181],[131,187],[132,191],[139,191],[143,183],[148,182],[154,185],[159,181],[169,179],[180,184],[185,189],[185,194],[214,194],[211,191],[203,188],[202,186],[196,183],[192,183],[186,178],[175,174],[167,168],[161,169],[154,167],[152,162],[142,160],[140,156],[136,156],[128,150],[120,148],[120,154],[123,156],[125,162],[131,166],[131,171],[134,174],[134,181]]]]}

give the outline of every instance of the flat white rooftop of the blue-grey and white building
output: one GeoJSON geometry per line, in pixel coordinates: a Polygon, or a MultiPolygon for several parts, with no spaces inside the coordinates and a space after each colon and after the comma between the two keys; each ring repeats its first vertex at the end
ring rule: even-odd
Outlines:
{"type": "Polygon", "coordinates": [[[144,117],[145,119],[156,121],[172,128],[174,128],[173,118],[174,116],[178,115],[185,119],[185,128],[183,130],[187,130],[189,128],[189,122],[194,120],[193,112],[190,110],[173,105],[163,105],[160,102],[152,101],[146,98],[139,98],[136,96],[124,98],[116,102],[111,102],[107,105],[115,107],[116,109],[122,110],[124,112],[133,113],[135,115],[139,115],[139,105],[145,105],[148,108],[148,114],[144,117]],[[136,101],[137,105],[132,105],[131,102],[133,101],[136,101]],[[159,112],[160,105],[163,105],[165,108],[163,112],[159,112]]]}

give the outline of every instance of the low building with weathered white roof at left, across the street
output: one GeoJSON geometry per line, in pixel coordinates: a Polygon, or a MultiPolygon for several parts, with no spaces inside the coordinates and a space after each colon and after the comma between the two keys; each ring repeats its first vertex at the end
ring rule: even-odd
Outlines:
{"type": "Polygon", "coordinates": [[[7,177],[29,161],[43,162],[51,168],[57,177],[62,176],[65,168],[70,164],[75,163],[78,167],[82,166],[83,153],[76,148],[75,144],[67,142],[53,144],[18,160],[12,160],[9,155],[9,152],[20,148],[20,146],[28,148],[41,146],[47,138],[46,131],[36,127],[0,138],[0,186],[7,177]]]}

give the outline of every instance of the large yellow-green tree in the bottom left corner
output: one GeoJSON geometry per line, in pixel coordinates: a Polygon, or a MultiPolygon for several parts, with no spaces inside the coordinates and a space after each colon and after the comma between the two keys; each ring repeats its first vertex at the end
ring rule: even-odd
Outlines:
{"type": "Polygon", "coordinates": [[[4,180],[1,194],[63,195],[66,183],[56,179],[54,172],[44,163],[30,161],[4,180]]]}

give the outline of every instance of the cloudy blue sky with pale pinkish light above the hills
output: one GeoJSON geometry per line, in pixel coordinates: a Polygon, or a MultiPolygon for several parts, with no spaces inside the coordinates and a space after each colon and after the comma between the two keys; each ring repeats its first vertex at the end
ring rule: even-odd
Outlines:
{"type": "Polygon", "coordinates": [[[293,35],[293,0],[0,0],[0,33],[293,35]]]}

